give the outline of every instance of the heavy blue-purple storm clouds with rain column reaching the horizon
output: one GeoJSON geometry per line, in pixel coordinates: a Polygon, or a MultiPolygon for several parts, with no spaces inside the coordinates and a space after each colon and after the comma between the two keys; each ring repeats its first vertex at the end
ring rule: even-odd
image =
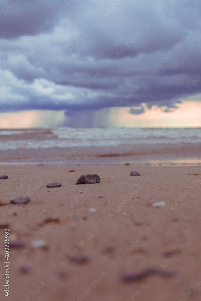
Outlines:
{"type": "Polygon", "coordinates": [[[0,14],[2,113],[65,110],[63,125],[93,126],[120,100],[136,116],[201,100],[200,0],[4,0],[0,14]]]}

